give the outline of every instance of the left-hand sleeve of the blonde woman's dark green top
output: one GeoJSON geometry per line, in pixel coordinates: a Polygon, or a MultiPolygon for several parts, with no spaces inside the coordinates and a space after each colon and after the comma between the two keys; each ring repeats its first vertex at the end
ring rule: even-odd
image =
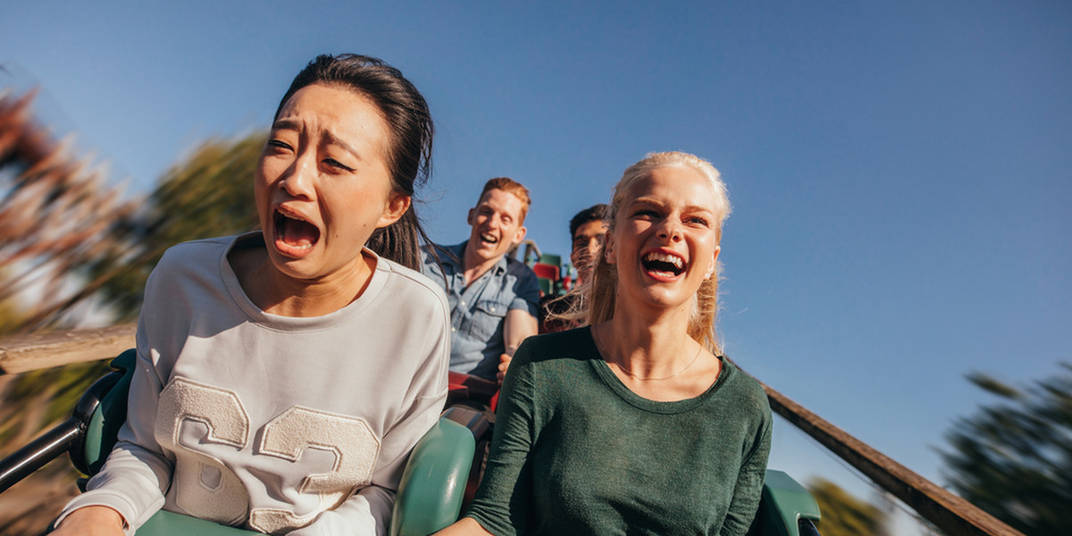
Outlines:
{"type": "Polygon", "coordinates": [[[466,512],[497,536],[524,534],[532,515],[535,400],[532,344],[521,343],[498,394],[495,431],[483,480],[466,512]]]}

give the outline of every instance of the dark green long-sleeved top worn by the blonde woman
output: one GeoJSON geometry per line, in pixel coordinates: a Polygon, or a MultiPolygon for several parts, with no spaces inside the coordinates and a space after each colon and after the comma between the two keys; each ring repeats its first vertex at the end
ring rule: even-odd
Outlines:
{"type": "Polygon", "coordinates": [[[629,390],[589,328],[533,337],[503,384],[466,516],[496,535],[744,535],[771,450],[771,408],[730,361],[703,394],[629,390]]]}

